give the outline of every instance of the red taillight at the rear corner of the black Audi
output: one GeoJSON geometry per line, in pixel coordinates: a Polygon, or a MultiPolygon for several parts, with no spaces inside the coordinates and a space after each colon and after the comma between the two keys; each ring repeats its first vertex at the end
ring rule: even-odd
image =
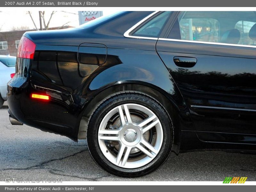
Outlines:
{"type": "Polygon", "coordinates": [[[34,59],[36,44],[25,36],[20,39],[17,57],[25,59],[34,59]]]}

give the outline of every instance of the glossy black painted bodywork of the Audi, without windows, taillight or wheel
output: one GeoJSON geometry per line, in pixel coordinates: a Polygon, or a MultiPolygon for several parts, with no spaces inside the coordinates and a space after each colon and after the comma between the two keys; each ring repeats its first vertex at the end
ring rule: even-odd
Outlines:
{"type": "Polygon", "coordinates": [[[142,91],[172,117],[176,153],[205,149],[209,142],[219,142],[218,148],[239,143],[240,149],[255,144],[256,112],[195,107],[256,109],[255,51],[124,37],[150,13],[122,12],[79,28],[25,33],[36,52],[34,60],[17,58],[16,75],[8,83],[10,113],[76,141],[81,118],[88,118],[99,101],[118,91],[142,91]],[[179,67],[175,57],[182,65],[196,63],[179,67]],[[239,74],[239,66],[248,73],[239,74]],[[32,93],[50,100],[31,99],[32,93]]]}

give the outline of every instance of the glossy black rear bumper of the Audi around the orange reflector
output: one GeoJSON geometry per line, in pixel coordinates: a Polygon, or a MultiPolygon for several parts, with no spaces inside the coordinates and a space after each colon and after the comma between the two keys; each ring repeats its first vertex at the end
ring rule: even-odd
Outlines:
{"type": "Polygon", "coordinates": [[[9,114],[14,119],[75,141],[84,106],[90,99],[80,95],[39,91],[30,83],[29,74],[26,77],[16,74],[7,84],[9,114]],[[49,95],[50,100],[32,99],[32,93],[49,95]]]}

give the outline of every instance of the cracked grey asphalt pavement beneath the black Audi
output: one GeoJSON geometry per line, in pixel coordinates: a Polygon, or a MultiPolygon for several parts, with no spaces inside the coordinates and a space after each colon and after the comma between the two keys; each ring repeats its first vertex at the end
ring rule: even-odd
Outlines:
{"type": "Polygon", "coordinates": [[[245,176],[256,181],[256,155],[223,151],[171,154],[157,171],[139,178],[122,178],[103,171],[92,160],[86,140],[11,125],[7,103],[0,109],[0,181],[62,179],[62,181],[223,181],[245,176]]]}

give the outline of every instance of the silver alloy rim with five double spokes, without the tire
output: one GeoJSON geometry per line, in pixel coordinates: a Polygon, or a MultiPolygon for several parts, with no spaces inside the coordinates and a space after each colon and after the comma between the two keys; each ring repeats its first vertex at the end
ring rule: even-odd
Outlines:
{"type": "Polygon", "coordinates": [[[163,143],[163,129],[158,117],[150,109],[127,103],[113,108],[104,116],[98,131],[98,142],[100,150],[112,164],[122,168],[138,168],[157,156],[163,143]],[[132,110],[139,111],[145,118],[131,115],[132,110]],[[113,116],[118,116],[118,122],[111,124],[113,116]],[[141,121],[138,122],[138,119],[141,121]],[[141,152],[139,156],[132,156],[138,151],[141,152]]]}

